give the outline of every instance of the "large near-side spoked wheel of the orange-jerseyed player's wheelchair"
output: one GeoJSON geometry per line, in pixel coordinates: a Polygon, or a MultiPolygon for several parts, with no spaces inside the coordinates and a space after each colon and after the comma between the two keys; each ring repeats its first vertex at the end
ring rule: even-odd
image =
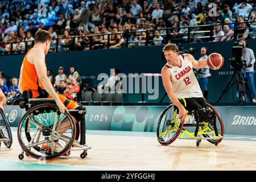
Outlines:
{"type": "Polygon", "coordinates": [[[76,137],[76,125],[69,113],[60,113],[54,104],[32,107],[20,119],[18,141],[27,155],[53,160],[66,154],[76,137]]]}

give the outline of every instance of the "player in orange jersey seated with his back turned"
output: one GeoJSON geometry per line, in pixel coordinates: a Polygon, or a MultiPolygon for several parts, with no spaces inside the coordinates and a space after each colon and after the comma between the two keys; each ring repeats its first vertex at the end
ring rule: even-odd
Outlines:
{"type": "MultiPolygon", "coordinates": [[[[81,113],[83,114],[74,113],[71,115],[73,121],[77,123],[77,121],[85,119],[85,108],[77,102],[69,100],[61,94],[57,94],[47,77],[45,57],[50,44],[51,33],[39,29],[35,34],[35,46],[28,50],[20,68],[19,92],[24,96],[30,90],[29,92],[32,92],[32,98],[53,98],[61,113],[65,113],[65,111],[68,113],[68,109],[82,110],[81,113]]],[[[68,122],[62,122],[57,128],[57,133],[60,135],[63,134],[69,129],[69,125],[68,122]]],[[[57,142],[42,144],[42,148],[46,150],[51,150],[51,147],[56,152],[59,148],[57,142]]]]}

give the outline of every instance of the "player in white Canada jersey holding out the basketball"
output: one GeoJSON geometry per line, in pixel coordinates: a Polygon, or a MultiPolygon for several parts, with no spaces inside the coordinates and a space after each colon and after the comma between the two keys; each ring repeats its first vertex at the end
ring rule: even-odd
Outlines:
{"type": "MultiPolygon", "coordinates": [[[[161,71],[164,89],[166,90],[168,97],[179,109],[179,118],[184,119],[187,115],[187,110],[198,111],[199,115],[206,114],[211,115],[213,110],[208,106],[207,101],[203,97],[199,82],[197,82],[193,68],[204,68],[209,64],[209,60],[204,59],[197,61],[195,58],[185,53],[179,55],[179,48],[175,44],[167,44],[163,48],[164,56],[167,63],[164,65],[161,71]]],[[[224,63],[224,58],[218,53],[213,53],[216,56],[220,56],[218,60],[214,60],[214,64],[220,64],[219,66],[212,65],[210,60],[209,67],[212,69],[220,69],[224,63]]],[[[208,58],[209,59],[209,58],[208,58]]]]}

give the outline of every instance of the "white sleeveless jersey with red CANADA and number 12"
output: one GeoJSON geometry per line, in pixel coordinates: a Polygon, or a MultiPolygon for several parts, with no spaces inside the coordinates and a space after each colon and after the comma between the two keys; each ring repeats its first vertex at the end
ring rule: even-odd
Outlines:
{"type": "Polygon", "coordinates": [[[192,63],[184,55],[179,55],[181,67],[166,64],[172,75],[172,88],[178,99],[203,97],[199,83],[192,69],[192,63]]]}

